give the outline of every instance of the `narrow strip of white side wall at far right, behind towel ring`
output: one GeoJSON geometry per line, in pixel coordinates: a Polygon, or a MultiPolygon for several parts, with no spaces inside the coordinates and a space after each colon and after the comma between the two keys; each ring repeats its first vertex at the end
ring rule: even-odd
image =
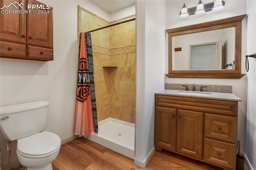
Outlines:
{"type": "MultiPolygon", "coordinates": [[[[247,53],[256,53],[256,1],[247,1],[247,53]]],[[[246,116],[245,156],[250,161],[250,168],[256,170],[256,59],[249,58],[248,103],[246,116]]]]}

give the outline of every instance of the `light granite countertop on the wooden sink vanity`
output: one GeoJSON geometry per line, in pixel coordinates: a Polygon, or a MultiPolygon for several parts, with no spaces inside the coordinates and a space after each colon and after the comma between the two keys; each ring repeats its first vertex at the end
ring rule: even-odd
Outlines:
{"type": "Polygon", "coordinates": [[[182,91],[182,90],[165,89],[162,91],[158,91],[155,94],[156,95],[167,95],[167,96],[191,97],[191,98],[200,98],[200,99],[242,101],[242,99],[240,99],[233,93],[216,93],[216,92],[182,91]],[[182,94],[182,93],[184,93],[184,94],[182,94]],[[188,93],[191,93],[191,94],[188,94],[188,93]]]}

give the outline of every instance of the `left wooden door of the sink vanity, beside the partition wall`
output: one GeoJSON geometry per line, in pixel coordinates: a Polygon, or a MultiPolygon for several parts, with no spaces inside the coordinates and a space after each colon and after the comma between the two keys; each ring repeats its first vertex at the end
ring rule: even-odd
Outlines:
{"type": "Polygon", "coordinates": [[[176,151],[177,109],[155,107],[155,148],[176,151]]]}

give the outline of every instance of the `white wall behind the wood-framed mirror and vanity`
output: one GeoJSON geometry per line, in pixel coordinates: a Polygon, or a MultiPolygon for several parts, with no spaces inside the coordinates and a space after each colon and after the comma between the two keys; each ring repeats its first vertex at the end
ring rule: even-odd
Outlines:
{"type": "MultiPolygon", "coordinates": [[[[203,3],[212,1],[204,0],[203,3]]],[[[220,20],[232,16],[239,16],[246,14],[246,0],[225,0],[224,9],[218,12],[206,12],[202,15],[192,15],[187,18],[180,18],[180,10],[185,3],[187,8],[196,6],[197,0],[170,0],[166,1],[166,29],[176,28],[181,26],[193,25],[212,20],[220,20]]],[[[242,21],[242,73],[245,71],[246,55],[246,18],[242,21]]],[[[254,30],[255,32],[255,30],[254,30]]],[[[254,46],[255,47],[255,46],[254,46]]],[[[166,49],[167,50],[167,49],[166,49]]],[[[167,53],[167,51],[166,51],[167,53]]],[[[168,63],[166,63],[166,73],[168,73],[168,63]]],[[[246,76],[241,79],[184,79],[184,78],[167,78],[165,83],[177,84],[205,84],[205,85],[232,85],[232,93],[242,99],[238,102],[238,140],[240,140],[240,151],[244,152],[245,144],[245,127],[246,127],[246,106],[247,106],[247,79],[246,76]]]]}

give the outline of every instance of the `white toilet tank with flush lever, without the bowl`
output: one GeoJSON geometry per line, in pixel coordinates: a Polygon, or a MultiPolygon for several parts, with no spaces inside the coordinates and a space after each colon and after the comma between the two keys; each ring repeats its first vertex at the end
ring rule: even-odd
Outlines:
{"type": "Polygon", "coordinates": [[[16,140],[41,132],[46,123],[48,101],[0,107],[0,128],[6,140],[16,140]]]}

